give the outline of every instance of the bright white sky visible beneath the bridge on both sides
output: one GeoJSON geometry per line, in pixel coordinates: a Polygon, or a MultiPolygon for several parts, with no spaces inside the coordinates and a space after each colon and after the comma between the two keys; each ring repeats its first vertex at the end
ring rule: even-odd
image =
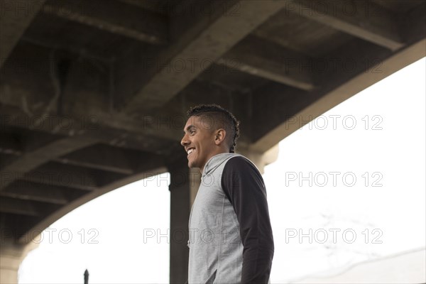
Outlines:
{"type": "MultiPolygon", "coordinates": [[[[280,142],[263,175],[272,283],[425,247],[425,70],[423,58],[280,142]]],[[[168,283],[169,224],[167,173],[126,185],[52,224],[19,283],[82,283],[86,268],[90,284],[168,283]]]]}

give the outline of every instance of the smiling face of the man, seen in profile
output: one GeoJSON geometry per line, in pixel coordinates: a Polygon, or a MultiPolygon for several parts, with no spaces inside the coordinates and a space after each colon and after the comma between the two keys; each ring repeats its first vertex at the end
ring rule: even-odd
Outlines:
{"type": "Polygon", "coordinates": [[[183,131],[180,144],[185,148],[188,167],[204,169],[209,158],[215,155],[214,131],[212,124],[204,116],[191,116],[183,131]]]}

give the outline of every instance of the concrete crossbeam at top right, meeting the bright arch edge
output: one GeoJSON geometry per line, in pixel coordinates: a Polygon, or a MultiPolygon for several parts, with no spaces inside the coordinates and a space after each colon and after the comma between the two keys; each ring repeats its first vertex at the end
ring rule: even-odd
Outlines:
{"type": "Polygon", "coordinates": [[[285,9],[390,50],[404,46],[396,16],[371,1],[293,0],[285,9]]]}

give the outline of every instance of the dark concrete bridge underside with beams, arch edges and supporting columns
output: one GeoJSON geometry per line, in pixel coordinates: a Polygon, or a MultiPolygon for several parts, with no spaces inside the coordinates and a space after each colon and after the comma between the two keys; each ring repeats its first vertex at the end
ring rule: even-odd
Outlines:
{"type": "MultiPolygon", "coordinates": [[[[0,4],[1,283],[37,232],[157,173],[171,173],[171,231],[186,230],[197,188],[175,181],[193,176],[179,144],[189,107],[233,111],[237,151],[262,168],[280,140],[426,49],[422,0],[0,4]]],[[[170,283],[183,283],[187,246],[170,246],[170,283]]]]}

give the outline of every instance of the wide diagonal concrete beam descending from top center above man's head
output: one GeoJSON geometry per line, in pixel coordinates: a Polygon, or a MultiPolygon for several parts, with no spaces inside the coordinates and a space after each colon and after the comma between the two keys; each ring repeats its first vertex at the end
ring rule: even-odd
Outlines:
{"type": "Polygon", "coordinates": [[[124,112],[163,106],[286,3],[270,0],[212,1],[212,16],[204,16],[202,21],[185,31],[177,43],[160,53],[157,61],[164,62],[161,66],[165,67],[156,68],[151,79],[128,100],[124,112]],[[173,67],[170,70],[170,65],[182,66],[182,60],[187,67],[173,67]]]}

